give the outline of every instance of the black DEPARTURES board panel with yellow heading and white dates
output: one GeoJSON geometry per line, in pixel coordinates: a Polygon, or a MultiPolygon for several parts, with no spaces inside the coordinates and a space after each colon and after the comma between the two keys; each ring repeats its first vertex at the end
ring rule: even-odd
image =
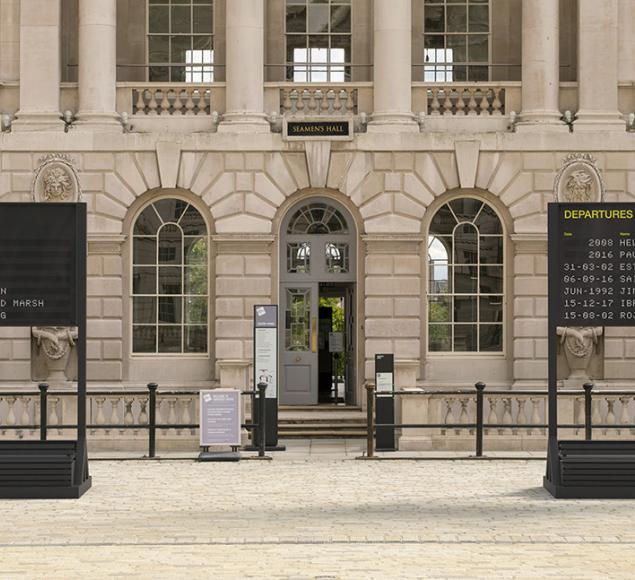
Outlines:
{"type": "Polygon", "coordinates": [[[550,204],[558,326],[635,325],[635,206],[550,204]]]}

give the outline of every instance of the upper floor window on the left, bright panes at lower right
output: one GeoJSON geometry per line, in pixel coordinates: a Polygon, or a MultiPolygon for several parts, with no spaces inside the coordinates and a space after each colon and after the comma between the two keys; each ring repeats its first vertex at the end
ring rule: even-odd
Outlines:
{"type": "Polygon", "coordinates": [[[214,0],[148,0],[148,80],[214,81],[214,0]]]}

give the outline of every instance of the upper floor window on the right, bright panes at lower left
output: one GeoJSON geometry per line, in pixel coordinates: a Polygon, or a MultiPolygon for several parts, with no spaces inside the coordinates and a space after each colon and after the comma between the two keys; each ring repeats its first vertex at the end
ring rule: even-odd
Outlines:
{"type": "Polygon", "coordinates": [[[425,0],[424,80],[489,80],[489,0],[425,0]]]}

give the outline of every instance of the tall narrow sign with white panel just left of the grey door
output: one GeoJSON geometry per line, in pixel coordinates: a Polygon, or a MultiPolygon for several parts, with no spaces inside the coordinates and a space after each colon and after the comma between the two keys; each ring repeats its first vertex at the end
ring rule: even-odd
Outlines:
{"type": "MultiPolygon", "coordinates": [[[[257,304],[254,306],[254,389],[266,383],[265,391],[265,445],[269,451],[284,451],[278,446],[278,306],[257,304]]],[[[258,417],[258,405],[254,416],[258,417]]],[[[254,432],[252,443],[258,446],[258,434],[254,432]]]]}

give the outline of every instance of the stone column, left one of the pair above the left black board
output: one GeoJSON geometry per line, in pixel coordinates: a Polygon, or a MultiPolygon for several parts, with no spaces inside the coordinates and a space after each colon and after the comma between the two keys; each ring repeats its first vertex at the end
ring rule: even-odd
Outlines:
{"type": "Polygon", "coordinates": [[[20,109],[13,131],[64,130],[60,12],[61,0],[20,3],[20,109]]]}

